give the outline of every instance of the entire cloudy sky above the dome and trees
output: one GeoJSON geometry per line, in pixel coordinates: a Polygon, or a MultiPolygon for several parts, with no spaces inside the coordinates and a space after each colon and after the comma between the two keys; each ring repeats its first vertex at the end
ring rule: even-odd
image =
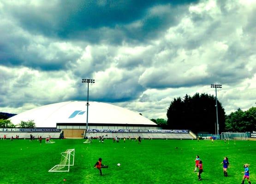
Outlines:
{"type": "Polygon", "coordinates": [[[89,99],[167,119],[173,98],[256,103],[256,0],[0,0],[0,112],[89,99]]]}

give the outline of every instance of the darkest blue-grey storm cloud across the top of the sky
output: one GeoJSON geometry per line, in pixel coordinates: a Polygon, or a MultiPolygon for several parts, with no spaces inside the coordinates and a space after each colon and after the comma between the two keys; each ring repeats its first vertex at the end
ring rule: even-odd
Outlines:
{"type": "MultiPolygon", "coordinates": [[[[96,36],[101,37],[102,33],[104,35],[104,32],[95,35],[98,29],[122,29],[125,32],[125,29],[123,29],[124,25],[138,20],[143,21],[143,26],[139,30],[141,34],[139,35],[143,36],[143,34],[147,32],[150,34],[155,32],[158,28],[167,27],[173,22],[174,15],[172,15],[173,12],[166,12],[160,16],[148,15],[149,8],[167,4],[177,7],[196,1],[197,0],[62,0],[57,1],[56,4],[53,2],[49,4],[46,3],[43,6],[39,6],[39,8],[29,3],[23,6],[16,6],[14,4],[8,6],[7,10],[9,11],[8,14],[18,20],[20,26],[29,32],[71,40],[79,39],[80,37],[88,40],[94,38],[95,41],[96,36]],[[93,36],[91,35],[92,33],[94,33],[93,36]]],[[[135,32],[137,31],[138,30],[135,30],[135,32]]],[[[126,34],[127,33],[129,33],[129,31],[126,31],[126,34]]],[[[154,34],[151,36],[154,36],[154,34]]]]}

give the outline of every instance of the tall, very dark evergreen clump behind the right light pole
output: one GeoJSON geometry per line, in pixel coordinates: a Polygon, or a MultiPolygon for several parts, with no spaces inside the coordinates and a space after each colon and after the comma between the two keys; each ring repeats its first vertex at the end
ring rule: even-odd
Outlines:
{"type": "MultiPolygon", "coordinates": [[[[218,104],[220,132],[225,127],[225,111],[218,104]]],[[[192,132],[215,133],[216,107],[213,95],[196,93],[193,97],[174,98],[167,109],[167,127],[169,129],[189,129],[192,132]]]]}

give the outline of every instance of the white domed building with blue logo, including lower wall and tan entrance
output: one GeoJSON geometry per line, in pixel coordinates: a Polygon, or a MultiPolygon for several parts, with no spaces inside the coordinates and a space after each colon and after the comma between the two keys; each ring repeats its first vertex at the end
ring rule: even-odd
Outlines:
{"type": "MultiPolygon", "coordinates": [[[[36,128],[58,128],[65,134],[81,136],[86,128],[87,104],[85,101],[68,101],[30,109],[9,118],[14,125],[34,120],[36,128]]],[[[88,129],[158,129],[149,119],[131,110],[113,104],[89,102],[88,129]]]]}

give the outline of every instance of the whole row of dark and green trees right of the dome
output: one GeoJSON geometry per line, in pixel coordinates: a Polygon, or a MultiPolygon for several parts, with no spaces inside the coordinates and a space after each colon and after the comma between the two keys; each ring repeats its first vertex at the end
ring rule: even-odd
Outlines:
{"type": "MultiPolygon", "coordinates": [[[[219,132],[252,132],[256,130],[256,108],[238,109],[226,115],[217,100],[219,132]]],[[[167,109],[167,121],[151,119],[165,129],[188,129],[192,132],[217,132],[216,101],[213,95],[196,93],[192,97],[174,98],[167,109]]]]}

